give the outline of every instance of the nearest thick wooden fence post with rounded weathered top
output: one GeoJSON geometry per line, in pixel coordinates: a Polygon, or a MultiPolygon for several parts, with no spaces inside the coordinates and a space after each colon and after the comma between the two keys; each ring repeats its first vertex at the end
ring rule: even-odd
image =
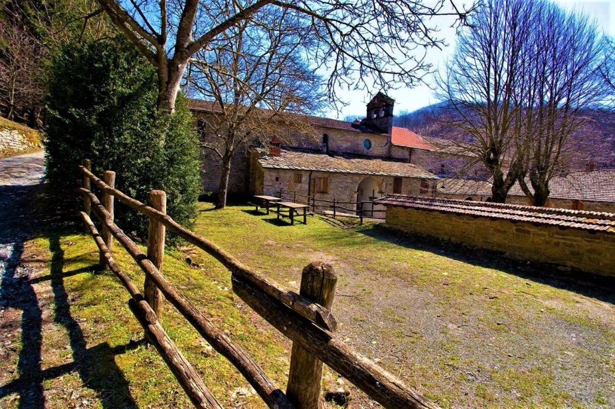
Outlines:
{"type": "MultiPolygon", "coordinates": [[[[325,308],[331,309],[338,277],[330,264],[313,262],[301,274],[300,294],[325,308]]],[[[322,361],[293,343],[288,372],[288,400],[297,409],[322,409],[322,361]]]]}

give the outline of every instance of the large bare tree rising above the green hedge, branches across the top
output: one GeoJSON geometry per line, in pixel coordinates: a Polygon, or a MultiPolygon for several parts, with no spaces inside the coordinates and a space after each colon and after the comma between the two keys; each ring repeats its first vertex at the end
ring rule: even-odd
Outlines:
{"type": "Polygon", "coordinates": [[[451,14],[463,21],[472,9],[460,10],[453,0],[436,0],[433,6],[423,0],[97,1],[156,66],[158,108],[170,111],[189,59],[263,7],[293,12],[296,23],[314,33],[317,43],[306,56],[327,63],[331,92],[336,85],[415,84],[429,68],[420,51],[441,44],[429,18],[451,14]]]}

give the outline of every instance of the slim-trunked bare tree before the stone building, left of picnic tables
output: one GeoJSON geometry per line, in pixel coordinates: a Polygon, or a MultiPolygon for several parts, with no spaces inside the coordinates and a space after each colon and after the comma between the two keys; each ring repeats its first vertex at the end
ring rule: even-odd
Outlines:
{"type": "Polygon", "coordinates": [[[203,146],[221,161],[216,207],[226,205],[231,160],[249,145],[269,145],[289,132],[311,133],[301,113],[322,108],[322,81],[300,52],[311,41],[288,10],[264,8],[224,31],[192,58],[191,93],[212,100],[202,119],[203,146]],[[290,21],[289,21],[290,20],[290,21]]]}

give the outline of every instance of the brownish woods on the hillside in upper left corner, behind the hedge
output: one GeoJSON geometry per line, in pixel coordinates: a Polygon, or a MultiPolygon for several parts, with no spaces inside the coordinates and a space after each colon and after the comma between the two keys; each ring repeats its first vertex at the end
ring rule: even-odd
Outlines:
{"type": "Polygon", "coordinates": [[[0,100],[4,115],[39,127],[44,63],[63,44],[109,31],[94,0],[6,0],[0,4],[0,100]]]}

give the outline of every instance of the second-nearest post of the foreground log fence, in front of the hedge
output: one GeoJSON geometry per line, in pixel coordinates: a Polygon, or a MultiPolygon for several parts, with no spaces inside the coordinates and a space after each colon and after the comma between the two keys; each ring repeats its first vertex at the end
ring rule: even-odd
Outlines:
{"type": "MultiPolygon", "coordinates": [[[[162,213],[167,213],[167,194],[161,190],[153,190],[149,193],[149,205],[159,210],[162,213]]],[[[157,221],[155,218],[149,218],[148,231],[148,258],[156,266],[159,272],[162,272],[162,258],[164,257],[164,241],[166,228],[164,224],[157,221]]],[[[156,283],[145,276],[143,283],[143,295],[145,301],[156,312],[156,317],[160,320],[162,308],[162,293],[156,283]]]]}

